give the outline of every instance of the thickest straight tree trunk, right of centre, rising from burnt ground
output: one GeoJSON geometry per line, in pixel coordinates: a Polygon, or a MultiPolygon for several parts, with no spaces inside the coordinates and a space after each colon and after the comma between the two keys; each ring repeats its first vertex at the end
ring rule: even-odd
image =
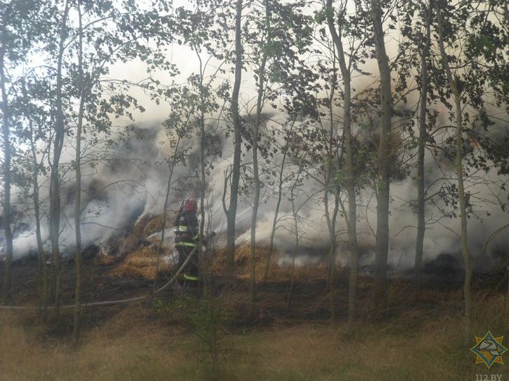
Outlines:
{"type": "Polygon", "coordinates": [[[390,67],[383,41],[381,1],[372,0],[372,22],[374,47],[380,72],[381,117],[380,144],[378,150],[377,181],[377,254],[374,269],[374,295],[377,302],[386,298],[387,260],[389,249],[389,194],[390,194],[390,124],[392,113],[392,94],[390,91],[390,67]]]}

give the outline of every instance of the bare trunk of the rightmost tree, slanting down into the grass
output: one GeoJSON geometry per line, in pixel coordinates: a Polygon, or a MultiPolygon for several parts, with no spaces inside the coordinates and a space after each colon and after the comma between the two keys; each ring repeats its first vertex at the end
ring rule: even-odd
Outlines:
{"type": "Polygon", "coordinates": [[[465,343],[468,344],[471,340],[471,329],[472,329],[472,296],[471,296],[471,282],[472,282],[472,267],[470,261],[469,248],[467,244],[467,226],[466,226],[466,197],[463,180],[463,115],[461,105],[461,93],[457,88],[456,79],[453,78],[453,72],[450,69],[446,48],[443,42],[443,20],[441,15],[441,9],[438,9],[439,19],[439,47],[440,54],[443,64],[443,69],[446,72],[447,79],[449,82],[450,89],[453,93],[453,99],[455,102],[455,113],[456,113],[456,159],[455,168],[458,184],[458,196],[459,196],[459,216],[461,220],[461,231],[459,234],[462,256],[465,267],[465,281],[463,285],[463,297],[465,302],[465,343]]]}

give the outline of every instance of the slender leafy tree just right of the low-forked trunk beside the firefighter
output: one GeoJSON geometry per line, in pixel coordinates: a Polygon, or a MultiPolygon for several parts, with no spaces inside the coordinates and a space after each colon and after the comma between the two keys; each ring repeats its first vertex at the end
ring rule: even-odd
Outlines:
{"type": "MultiPolygon", "coordinates": [[[[247,132],[248,150],[252,150],[252,172],[254,184],[254,200],[251,215],[251,301],[256,299],[256,228],[258,207],[261,201],[260,190],[266,182],[260,176],[261,159],[271,160],[275,155],[272,138],[279,123],[270,120],[271,114],[264,108],[270,102],[277,108],[275,102],[282,93],[282,83],[287,80],[291,72],[302,65],[301,56],[310,45],[310,19],[302,13],[303,3],[277,3],[271,0],[261,1],[259,6],[254,3],[248,14],[245,62],[252,68],[257,83],[254,117],[251,117],[249,105],[246,104],[247,114],[251,123],[247,132]],[[294,47],[294,49],[292,49],[294,47]]],[[[277,219],[277,217],[275,217],[277,219]]],[[[273,238],[272,238],[273,240],[273,238]]]]}

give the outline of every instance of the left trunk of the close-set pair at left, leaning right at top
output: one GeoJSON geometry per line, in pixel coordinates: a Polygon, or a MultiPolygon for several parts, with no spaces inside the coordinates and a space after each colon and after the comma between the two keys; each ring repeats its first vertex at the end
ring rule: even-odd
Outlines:
{"type": "Polygon", "coordinates": [[[56,65],[56,123],[53,145],[53,161],[51,165],[50,179],[50,240],[52,243],[52,296],[55,302],[55,315],[60,316],[60,272],[61,272],[61,254],[59,248],[60,235],[60,176],[59,164],[60,155],[63,148],[64,138],[64,119],[63,119],[63,100],[62,100],[62,65],[64,42],[66,40],[66,24],[69,13],[69,2],[66,1],[63,10],[60,36],[59,36],[59,54],[56,65]]]}

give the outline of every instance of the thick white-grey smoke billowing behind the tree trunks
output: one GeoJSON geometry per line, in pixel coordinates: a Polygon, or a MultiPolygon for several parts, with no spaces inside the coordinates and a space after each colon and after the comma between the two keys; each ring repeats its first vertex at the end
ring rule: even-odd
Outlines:
{"type": "MultiPolygon", "coordinates": [[[[169,169],[166,164],[167,157],[172,154],[172,148],[165,141],[167,131],[158,121],[139,122],[132,128],[132,134],[128,139],[119,142],[113,149],[113,160],[98,163],[87,167],[84,171],[83,203],[86,204],[82,215],[82,236],[84,245],[105,244],[114,234],[120,235],[125,228],[144,215],[160,215],[165,198],[165,189],[168,180],[169,169]],[[162,164],[161,164],[162,163],[162,164]]],[[[208,176],[208,201],[206,208],[213,213],[211,217],[211,230],[220,233],[225,231],[225,217],[222,212],[222,193],[224,173],[232,162],[233,149],[229,140],[223,139],[222,157],[215,162],[215,167],[208,176]]],[[[199,149],[199,141],[190,139],[183,141],[181,148],[186,148],[193,153],[199,149]]],[[[67,153],[64,161],[70,162],[73,153],[67,153]]],[[[428,155],[427,166],[434,168],[434,160],[428,155]]],[[[244,157],[249,162],[249,153],[244,157]]],[[[280,155],[271,160],[274,166],[281,162],[280,155]]],[[[451,165],[451,164],[449,164],[451,165]]],[[[296,166],[288,165],[287,171],[296,171],[296,166]]],[[[452,168],[445,168],[441,173],[428,173],[427,181],[433,182],[443,173],[453,175],[452,168]]],[[[289,173],[285,173],[288,175],[289,173]]],[[[184,196],[198,196],[199,189],[195,168],[193,165],[177,166],[174,170],[175,187],[169,194],[169,210],[176,210],[180,200],[184,196]]],[[[318,176],[318,175],[317,175],[318,176]]],[[[467,189],[476,195],[478,200],[493,199],[489,180],[499,180],[494,170],[487,173],[487,182],[471,184],[467,189]]],[[[284,194],[280,206],[279,221],[275,233],[274,244],[281,254],[279,263],[289,263],[289,256],[296,240],[294,234],[294,218],[291,212],[291,200],[289,186],[291,180],[284,184],[284,194]]],[[[73,226],[73,179],[68,179],[63,186],[63,230],[61,233],[61,248],[65,253],[70,253],[74,247],[73,226]]],[[[272,189],[275,187],[273,185],[272,189]]],[[[294,203],[298,212],[298,233],[302,236],[299,243],[301,249],[298,252],[296,265],[317,263],[322,258],[317,253],[328,252],[328,230],[324,217],[323,192],[317,192],[321,185],[312,177],[305,178],[298,187],[294,203]]],[[[47,192],[47,189],[45,189],[47,192]]],[[[431,192],[431,191],[430,191],[431,192]]],[[[390,205],[390,247],[388,261],[395,270],[405,270],[413,266],[413,254],[416,241],[416,214],[410,207],[410,201],[416,199],[416,182],[412,176],[391,184],[392,202],[390,205]]],[[[44,195],[42,195],[44,196],[44,195]]],[[[251,192],[245,189],[238,205],[238,242],[250,240],[250,217],[251,217],[251,192]]],[[[345,201],[346,194],[342,194],[345,201]]],[[[507,194],[498,194],[504,199],[507,194]]],[[[259,217],[257,221],[257,242],[268,244],[271,238],[273,219],[275,215],[275,201],[277,194],[266,189],[262,193],[259,217]]],[[[228,199],[228,194],[227,194],[228,199]]],[[[507,221],[507,215],[499,205],[483,203],[484,214],[482,219],[469,219],[469,247],[475,253],[482,247],[485,238],[496,228],[507,221]],[[489,213],[489,216],[487,213],[489,213]]],[[[345,207],[347,203],[345,202],[345,207]]],[[[369,266],[374,262],[375,238],[372,231],[376,228],[376,196],[373,190],[366,188],[358,198],[358,242],[361,247],[360,266],[369,266]]],[[[24,219],[28,228],[19,233],[14,241],[15,258],[20,258],[36,249],[36,239],[33,235],[33,222],[26,217],[24,219]]],[[[427,226],[424,241],[424,261],[431,261],[439,254],[457,254],[459,252],[459,218],[444,218],[441,211],[435,206],[427,205],[427,220],[433,222],[427,226]],[[439,220],[434,222],[434,220],[439,220]]],[[[44,221],[43,221],[44,222],[44,221]]],[[[169,225],[172,225],[170,221],[169,225]]],[[[43,237],[47,242],[47,224],[43,223],[43,237]]],[[[338,262],[347,265],[348,245],[346,224],[342,213],[337,219],[338,240],[340,245],[337,249],[338,262]]],[[[160,233],[155,233],[149,240],[157,240],[160,233]]],[[[165,232],[165,244],[172,252],[173,233],[172,228],[165,232]]],[[[501,233],[494,240],[491,247],[503,247],[507,242],[506,233],[501,233]],[[505,234],[505,235],[504,235],[505,234]]],[[[48,244],[48,242],[47,242],[48,244]]],[[[491,256],[489,256],[491,258],[491,256]]],[[[168,259],[172,261],[172,259],[168,259]]],[[[489,260],[492,261],[492,260],[489,260]]],[[[483,264],[489,263],[483,261],[483,264]]],[[[493,261],[492,261],[493,262],[493,261]]]]}

